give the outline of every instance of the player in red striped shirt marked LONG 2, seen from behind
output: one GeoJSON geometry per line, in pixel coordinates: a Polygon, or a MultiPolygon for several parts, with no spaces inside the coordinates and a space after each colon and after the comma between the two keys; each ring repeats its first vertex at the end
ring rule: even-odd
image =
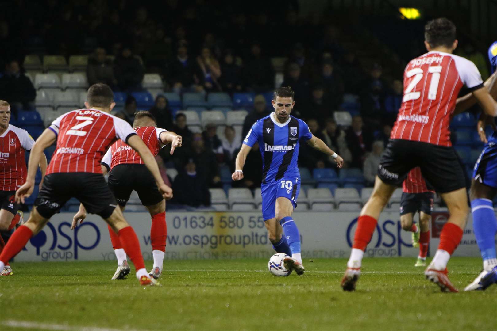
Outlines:
{"type": "Polygon", "coordinates": [[[138,237],[124,219],[121,209],[116,208],[115,198],[102,176],[100,160],[103,153],[117,139],[126,141],[143,158],[163,197],[171,197],[172,190],[164,184],[154,156],[133,128],[109,114],[115,106],[113,99],[109,86],[101,83],[90,86],[88,101],[84,103],[86,109],[60,116],[36,140],[29,157],[26,183],[15,193],[17,202],[24,202],[24,198],[33,193],[36,167],[43,150],[57,141],[56,151],[28,221],[12,234],[0,254],[0,268],[19,253],[69,199],[75,197],[85,210],[100,215],[118,234],[126,254],[135,265],[140,284],[157,283],[147,273],[138,237]]]}

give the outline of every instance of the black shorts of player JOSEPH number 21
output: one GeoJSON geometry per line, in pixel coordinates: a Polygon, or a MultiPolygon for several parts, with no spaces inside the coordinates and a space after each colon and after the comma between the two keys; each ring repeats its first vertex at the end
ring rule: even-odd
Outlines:
{"type": "Polygon", "coordinates": [[[401,187],[411,169],[421,174],[436,192],[447,193],[466,187],[466,172],[453,147],[426,142],[391,139],[381,156],[378,177],[401,187]]]}

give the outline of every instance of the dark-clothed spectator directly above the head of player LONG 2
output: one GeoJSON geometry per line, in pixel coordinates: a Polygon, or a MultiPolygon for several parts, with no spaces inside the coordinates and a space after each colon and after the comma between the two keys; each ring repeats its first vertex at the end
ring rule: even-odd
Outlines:
{"type": "Polygon", "coordinates": [[[90,86],[96,83],[107,84],[112,89],[117,86],[114,67],[112,66],[112,61],[107,59],[105,49],[101,47],[96,48],[93,55],[88,58],[86,78],[90,86]]]}

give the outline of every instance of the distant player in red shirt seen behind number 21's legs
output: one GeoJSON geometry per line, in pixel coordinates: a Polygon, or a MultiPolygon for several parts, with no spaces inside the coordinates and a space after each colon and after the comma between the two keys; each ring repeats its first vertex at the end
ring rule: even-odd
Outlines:
{"type": "Polygon", "coordinates": [[[419,255],[414,266],[426,266],[426,254],[430,242],[430,220],[433,211],[435,191],[429,190],[421,169],[414,168],[402,183],[401,225],[413,233],[413,247],[419,247],[419,255]],[[413,222],[419,212],[419,224],[413,222]]]}

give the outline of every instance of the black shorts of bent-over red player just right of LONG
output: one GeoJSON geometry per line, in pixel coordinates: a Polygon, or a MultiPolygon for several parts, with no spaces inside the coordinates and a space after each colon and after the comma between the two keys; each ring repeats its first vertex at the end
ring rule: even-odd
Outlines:
{"type": "Polygon", "coordinates": [[[145,164],[116,165],[109,172],[108,185],[120,206],[126,205],[133,191],[138,193],[144,206],[157,204],[164,199],[145,164]]]}

